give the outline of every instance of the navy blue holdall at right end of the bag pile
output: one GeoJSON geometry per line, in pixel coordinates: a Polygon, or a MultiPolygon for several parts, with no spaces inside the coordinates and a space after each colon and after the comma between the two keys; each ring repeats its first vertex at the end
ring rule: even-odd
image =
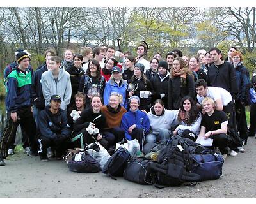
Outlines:
{"type": "Polygon", "coordinates": [[[191,171],[200,175],[200,180],[219,179],[222,175],[224,159],[220,154],[207,149],[201,154],[193,154],[191,171]]]}

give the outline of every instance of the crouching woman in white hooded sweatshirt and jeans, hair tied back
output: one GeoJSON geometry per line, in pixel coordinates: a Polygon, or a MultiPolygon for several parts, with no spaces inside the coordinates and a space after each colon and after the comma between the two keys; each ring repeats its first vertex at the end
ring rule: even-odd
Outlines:
{"type": "Polygon", "coordinates": [[[147,113],[150,121],[150,133],[146,136],[146,142],[158,142],[166,140],[172,134],[171,128],[177,126],[179,110],[166,110],[161,99],[154,102],[154,106],[147,113]]]}

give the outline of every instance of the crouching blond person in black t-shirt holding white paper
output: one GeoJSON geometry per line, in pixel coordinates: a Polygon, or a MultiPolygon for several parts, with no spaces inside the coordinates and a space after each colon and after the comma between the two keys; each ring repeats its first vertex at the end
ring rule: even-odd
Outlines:
{"type": "MultiPolygon", "coordinates": [[[[202,115],[201,129],[196,142],[199,142],[200,140],[202,141],[202,139],[203,141],[209,140],[209,138],[211,138],[212,145],[210,143],[207,146],[219,147],[220,152],[225,159],[228,153],[228,145],[231,141],[230,136],[227,135],[227,115],[223,111],[214,109],[215,103],[212,98],[204,98],[202,105],[207,114],[202,115]]],[[[203,143],[202,145],[204,145],[203,143]]]]}

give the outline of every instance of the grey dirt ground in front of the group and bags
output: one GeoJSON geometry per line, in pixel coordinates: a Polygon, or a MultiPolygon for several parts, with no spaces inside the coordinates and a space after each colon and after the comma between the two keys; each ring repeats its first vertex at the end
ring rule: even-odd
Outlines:
{"type": "Polygon", "coordinates": [[[228,156],[218,180],[198,182],[195,187],[156,189],[154,186],[113,180],[102,173],[73,173],[65,161],[40,161],[19,152],[0,166],[0,197],[33,198],[231,198],[256,196],[256,139],[248,138],[246,153],[228,156]]]}

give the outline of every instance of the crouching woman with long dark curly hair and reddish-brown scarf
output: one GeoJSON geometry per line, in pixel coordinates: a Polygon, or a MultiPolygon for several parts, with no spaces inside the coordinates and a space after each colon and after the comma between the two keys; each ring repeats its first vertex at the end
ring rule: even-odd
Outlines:
{"type": "Polygon", "coordinates": [[[178,113],[179,126],[173,131],[173,135],[179,135],[196,141],[200,132],[200,124],[202,120],[196,103],[190,96],[182,98],[178,113]]]}

